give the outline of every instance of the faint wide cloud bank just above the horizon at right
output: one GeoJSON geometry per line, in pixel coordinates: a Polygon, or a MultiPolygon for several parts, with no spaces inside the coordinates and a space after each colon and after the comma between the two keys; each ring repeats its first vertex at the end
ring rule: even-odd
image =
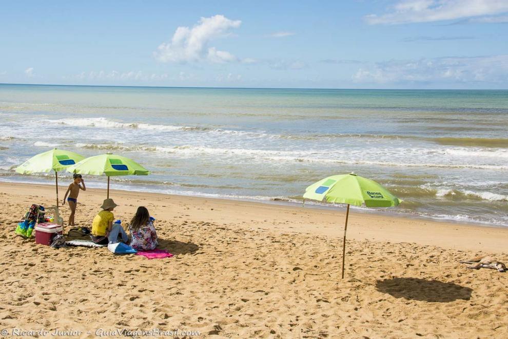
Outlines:
{"type": "Polygon", "coordinates": [[[446,57],[420,60],[390,60],[358,69],[352,79],[376,84],[506,84],[508,54],[446,57]]]}

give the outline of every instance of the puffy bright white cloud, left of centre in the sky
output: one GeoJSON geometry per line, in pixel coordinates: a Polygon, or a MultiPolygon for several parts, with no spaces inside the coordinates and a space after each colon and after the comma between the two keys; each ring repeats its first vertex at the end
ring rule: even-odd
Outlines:
{"type": "Polygon", "coordinates": [[[159,45],[154,56],[161,62],[237,61],[235,55],[208,47],[208,44],[217,37],[227,35],[229,29],[240,27],[241,23],[240,20],[229,20],[224,15],[201,17],[199,23],[192,28],[178,27],[171,42],[159,45]]]}

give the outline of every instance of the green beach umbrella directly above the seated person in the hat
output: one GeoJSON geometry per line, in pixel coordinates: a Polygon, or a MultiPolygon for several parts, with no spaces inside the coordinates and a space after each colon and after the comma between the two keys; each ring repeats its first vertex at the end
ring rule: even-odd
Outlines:
{"type": "Polygon", "coordinates": [[[149,175],[150,172],[132,159],[116,154],[107,153],[83,159],[67,168],[67,172],[91,175],[106,175],[109,177],[123,175],[149,175]]]}

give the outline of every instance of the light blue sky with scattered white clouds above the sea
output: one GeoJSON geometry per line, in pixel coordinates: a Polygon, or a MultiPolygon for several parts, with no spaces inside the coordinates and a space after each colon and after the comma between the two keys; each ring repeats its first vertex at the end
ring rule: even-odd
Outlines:
{"type": "Polygon", "coordinates": [[[0,83],[508,89],[508,0],[17,0],[0,23],[0,83]]]}

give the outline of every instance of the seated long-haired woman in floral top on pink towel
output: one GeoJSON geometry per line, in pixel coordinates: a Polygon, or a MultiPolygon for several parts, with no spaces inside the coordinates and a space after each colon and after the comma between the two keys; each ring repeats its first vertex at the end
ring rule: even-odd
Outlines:
{"type": "Polygon", "coordinates": [[[136,250],[154,250],[157,247],[157,233],[146,207],[138,207],[129,224],[129,231],[132,237],[130,246],[136,250]]]}

